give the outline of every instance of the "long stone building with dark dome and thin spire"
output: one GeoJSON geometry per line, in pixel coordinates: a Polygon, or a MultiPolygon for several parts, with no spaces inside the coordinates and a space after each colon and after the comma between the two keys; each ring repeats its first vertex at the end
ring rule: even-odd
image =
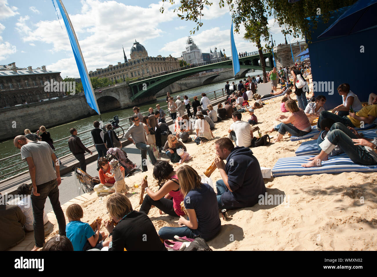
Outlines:
{"type": "Polygon", "coordinates": [[[149,57],[145,47],[136,40],[130,51],[130,59],[127,60],[123,49],[124,63],[109,64],[106,68],[97,68],[89,71],[89,77],[106,77],[109,81],[124,81],[127,78],[145,77],[160,72],[179,68],[179,60],[172,57],[149,57]]]}

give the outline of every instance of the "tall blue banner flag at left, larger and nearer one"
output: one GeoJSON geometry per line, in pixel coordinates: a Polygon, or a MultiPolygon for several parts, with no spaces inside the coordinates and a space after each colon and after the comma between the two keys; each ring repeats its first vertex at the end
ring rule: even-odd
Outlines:
{"type": "Polygon", "coordinates": [[[80,45],[78,44],[75,30],[73,29],[73,26],[69,19],[66,8],[64,8],[64,5],[61,2],[61,0],[57,0],[56,3],[59,7],[60,14],[61,14],[61,17],[63,18],[64,24],[66,25],[69,41],[72,46],[73,54],[75,56],[77,69],[78,69],[78,72],[80,73],[81,83],[83,84],[86,102],[89,104],[89,106],[93,110],[95,110],[98,113],[98,115],[101,115],[100,109],[98,108],[97,99],[95,98],[95,95],[94,95],[92,83],[90,83],[88,70],[86,69],[85,61],[83,58],[83,53],[81,53],[80,45]]]}

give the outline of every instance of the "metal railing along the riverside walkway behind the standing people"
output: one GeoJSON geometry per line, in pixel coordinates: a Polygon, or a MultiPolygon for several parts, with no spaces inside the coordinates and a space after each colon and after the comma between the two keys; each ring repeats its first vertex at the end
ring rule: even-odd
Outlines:
{"type": "MultiPolygon", "coordinates": [[[[213,91],[210,91],[210,92],[205,92],[207,97],[210,99],[210,100],[216,100],[218,98],[221,98],[223,96],[225,96],[225,90],[224,89],[217,89],[217,90],[213,90],[213,91]]],[[[192,102],[193,102],[193,97],[189,98],[192,102]]],[[[198,100],[200,101],[201,99],[201,95],[198,95],[198,100]]],[[[170,118],[170,115],[169,115],[169,110],[167,109],[167,105],[165,106],[161,106],[161,108],[166,112],[166,121],[169,121],[171,118],[170,118]]],[[[156,109],[154,109],[156,110],[156,109]]],[[[191,111],[193,109],[191,108],[191,111]]],[[[185,109],[185,112],[186,112],[186,109],[185,109]]],[[[147,116],[149,113],[149,111],[145,111],[145,112],[141,112],[141,114],[143,116],[147,116]]],[[[106,125],[105,122],[103,122],[103,126],[106,125]]],[[[124,130],[124,133],[127,132],[127,129],[132,125],[132,121],[131,121],[131,117],[126,117],[126,118],[121,118],[119,120],[119,124],[123,130],[124,130]]],[[[94,146],[93,143],[92,143],[92,136],[90,134],[88,134],[90,130],[85,130],[83,132],[80,132],[78,133],[77,135],[80,136],[80,139],[81,141],[83,142],[83,144],[85,145],[85,147],[89,148],[89,147],[92,147],[94,146]]],[[[66,136],[64,138],[60,138],[60,139],[57,139],[57,140],[54,140],[54,145],[57,146],[57,144],[60,144],[59,146],[57,146],[55,148],[55,153],[56,155],[58,156],[58,158],[62,159],[62,158],[65,158],[67,156],[72,156],[72,153],[70,152],[69,150],[69,147],[68,147],[68,139],[70,138],[70,136],[66,136]],[[62,144],[62,142],[66,141],[66,144],[62,144]],[[59,143],[60,142],[60,143],[59,143]]],[[[126,137],[124,137],[123,139],[121,139],[121,141],[125,141],[127,140],[126,137]]],[[[28,164],[26,164],[26,162],[23,162],[21,161],[21,153],[17,153],[15,155],[11,155],[11,156],[8,156],[6,158],[2,158],[0,159],[0,164],[1,164],[1,168],[0,168],[0,180],[2,179],[6,179],[6,178],[9,178],[9,177],[12,177],[14,175],[17,175],[17,174],[20,174],[22,172],[28,172],[28,164]]]]}

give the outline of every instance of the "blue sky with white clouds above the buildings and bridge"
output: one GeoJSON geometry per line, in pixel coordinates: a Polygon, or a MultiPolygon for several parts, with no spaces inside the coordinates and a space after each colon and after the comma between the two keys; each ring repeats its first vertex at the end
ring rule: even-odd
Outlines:
{"type": "MultiPolygon", "coordinates": [[[[55,0],[56,1],[56,0],[55,0]]],[[[177,2],[177,1],[176,1],[177,2]]],[[[179,2],[179,1],[178,1],[179,2]]],[[[169,1],[165,11],[162,2],[153,0],[63,0],[88,71],[123,63],[133,43],[138,41],[148,55],[181,57],[185,41],[196,24],[180,20],[169,1]]],[[[58,6],[51,0],[0,0],[0,64],[16,63],[17,67],[45,65],[61,72],[61,77],[79,77],[64,22],[58,6]],[[60,21],[58,20],[58,17],[60,21]]],[[[206,6],[203,26],[191,35],[203,53],[217,47],[230,55],[231,16],[228,7],[219,8],[218,0],[206,6]]],[[[270,31],[276,44],[284,43],[281,29],[269,18],[270,31]]],[[[243,39],[244,28],[234,34],[238,52],[256,51],[257,47],[243,39]]],[[[291,42],[300,41],[287,37],[291,42]]]]}

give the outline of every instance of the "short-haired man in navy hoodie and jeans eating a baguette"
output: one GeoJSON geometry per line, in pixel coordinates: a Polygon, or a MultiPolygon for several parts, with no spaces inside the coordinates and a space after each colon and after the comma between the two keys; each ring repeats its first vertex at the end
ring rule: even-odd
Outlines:
{"type": "Polygon", "coordinates": [[[219,209],[234,210],[257,204],[266,187],[253,152],[247,147],[234,147],[229,138],[218,139],[215,149],[215,164],[222,178],[216,182],[219,209]]]}

